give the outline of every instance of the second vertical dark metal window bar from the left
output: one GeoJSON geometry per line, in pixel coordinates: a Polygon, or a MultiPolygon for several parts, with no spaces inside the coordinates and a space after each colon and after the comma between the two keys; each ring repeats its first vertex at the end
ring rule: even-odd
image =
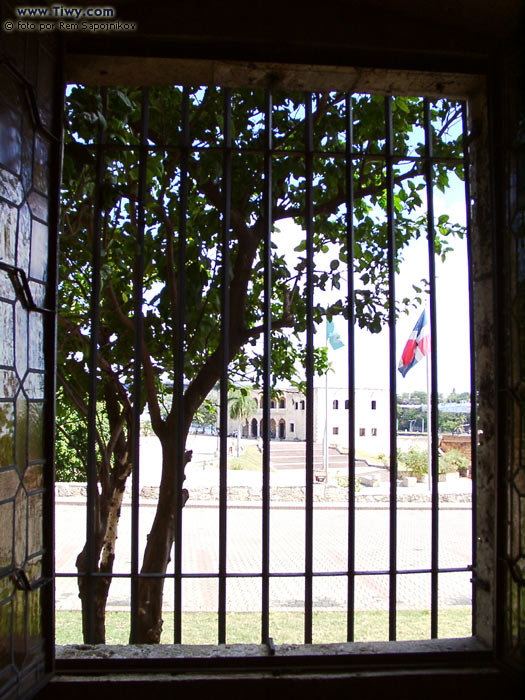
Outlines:
{"type": "Polygon", "coordinates": [[[144,229],[146,208],[146,178],[148,160],[149,90],[142,88],[139,149],[139,179],[137,190],[137,254],[133,278],[133,429],[131,474],[131,619],[130,640],[138,639],[138,573],[139,573],[139,491],[140,491],[140,413],[142,402],[142,344],[144,324],[142,316],[142,290],[144,287],[144,229]]]}

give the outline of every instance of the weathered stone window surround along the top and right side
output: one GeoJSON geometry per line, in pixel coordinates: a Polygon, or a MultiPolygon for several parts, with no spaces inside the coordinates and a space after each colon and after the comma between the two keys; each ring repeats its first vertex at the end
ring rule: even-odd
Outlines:
{"type": "MultiPolygon", "coordinates": [[[[471,200],[475,203],[471,214],[472,226],[472,310],[475,319],[476,371],[483,391],[478,394],[478,431],[482,436],[477,450],[479,479],[476,494],[477,570],[475,582],[475,619],[472,644],[459,640],[452,648],[466,653],[482,652],[495,643],[495,599],[491,591],[496,588],[494,553],[496,536],[491,532],[496,499],[493,480],[497,470],[496,408],[491,397],[495,390],[494,359],[492,348],[480,341],[491,334],[494,324],[493,269],[494,242],[492,240],[491,164],[489,162],[489,128],[485,77],[474,74],[457,74],[441,71],[408,71],[375,68],[350,68],[341,66],[286,65],[274,63],[246,63],[224,60],[194,60],[171,58],[144,58],[81,54],[69,57],[69,79],[87,85],[161,85],[161,84],[214,84],[222,87],[276,87],[302,90],[351,90],[378,94],[418,95],[439,98],[463,99],[469,105],[471,126],[470,160],[471,200]],[[478,645],[476,637],[481,641],[478,645]]],[[[297,406],[298,407],[298,406],[297,406]]],[[[304,410],[305,402],[301,401],[304,410]]],[[[364,431],[363,428],[360,429],[364,431]]],[[[368,645],[372,653],[408,651],[403,642],[368,645]]],[[[412,643],[410,643],[412,644],[412,643]]],[[[359,649],[359,643],[340,645],[344,651],[359,649]]],[[[446,647],[442,640],[416,643],[427,651],[446,647]],[[430,645],[430,646],[429,646],[430,645]]],[[[412,649],[415,647],[412,646],[412,649]]],[[[296,651],[293,652],[297,653],[296,651]]],[[[89,652],[88,652],[89,655],[89,652]]]]}

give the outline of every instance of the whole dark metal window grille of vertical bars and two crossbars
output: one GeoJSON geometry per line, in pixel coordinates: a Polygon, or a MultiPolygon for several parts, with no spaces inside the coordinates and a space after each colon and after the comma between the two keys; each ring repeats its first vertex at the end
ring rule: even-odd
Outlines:
{"type": "MultiPolygon", "coordinates": [[[[104,111],[106,109],[107,95],[106,91],[102,91],[104,111]]],[[[313,115],[312,104],[313,95],[306,93],[304,96],[305,110],[305,145],[302,152],[286,151],[287,155],[300,155],[304,158],[305,163],[305,214],[304,225],[306,231],[306,299],[307,299],[307,323],[306,323],[306,425],[307,425],[307,440],[306,440],[306,502],[305,502],[305,567],[304,571],[300,572],[270,572],[270,384],[271,384],[271,231],[272,231],[272,158],[282,153],[283,151],[273,147],[273,123],[272,123],[272,95],[269,91],[265,96],[265,144],[264,148],[234,148],[232,147],[231,139],[231,90],[224,90],[224,128],[223,128],[223,143],[220,147],[206,147],[208,150],[219,150],[223,156],[223,175],[222,175],[222,300],[221,300],[221,380],[220,380],[220,487],[219,487],[219,572],[199,572],[199,571],[182,571],[181,566],[181,550],[180,542],[182,536],[182,515],[181,509],[177,506],[177,513],[180,515],[179,522],[176,526],[175,540],[175,564],[174,572],[166,574],[148,573],[142,575],[138,573],[136,562],[132,565],[130,573],[112,573],[113,579],[131,578],[132,590],[142,576],[145,578],[163,577],[166,579],[174,579],[174,602],[175,602],[175,642],[181,640],[181,610],[182,610],[182,581],[183,580],[198,580],[198,579],[218,579],[219,596],[218,596],[218,641],[225,643],[226,641],[226,591],[228,579],[242,578],[260,578],[261,579],[261,601],[262,601],[262,617],[261,617],[261,636],[263,643],[269,643],[269,612],[270,612],[270,582],[272,578],[304,578],[305,583],[305,624],[304,624],[304,642],[312,642],[312,619],[313,619],[313,581],[314,578],[329,578],[329,577],[347,577],[347,638],[351,641],[354,638],[354,596],[355,596],[355,580],[361,576],[387,576],[389,578],[389,637],[394,640],[396,638],[396,612],[397,612],[397,577],[399,575],[408,574],[430,574],[431,576],[431,636],[438,635],[438,576],[440,573],[459,573],[472,570],[472,565],[464,567],[439,567],[438,561],[438,545],[439,545],[439,502],[438,502],[438,454],[437,454],[437,334],[436,334],[436,289],[435,289],[435,265],[434,265],[434,225],[433,225],[433,165],[436,162],[458,164],[463,163],[467,169],[467,146],[465,142],[465,155],[463,159],[458,158],[443,158],[434,157],[432,152],[432,125],[430,119],[430,103],[424,101],[424,124],[425,124],[425,155],[421,156],[398,156],[393,152],[393,126],[392,126],[392,98],[387,97],[384,101],[385,114],[385,137],[386,144],[383,154],[369,155],[354,151],[353,147],[353,118],[352,118],[352,98],[351,94],[345,96],[346,103],[346,147],[343,152],[315,151],[313,148],[313,115]],[[264,382],[263,382],[263,507],[262,507],[262,567],[260,572],[235,572],[227,570],[226,560],[226,532],[227,532],[227,427],[228,427],[228,365],[230,360],[230,349],[228,347],[228,328],[230,323],[230,292],[229,292],[229,276],[230,276],[230,213],[231,213],[231,182],[232,182],[232,153],[233,152],[257,152],[263,150],[264,156],[264,189],[263,189],[263,210],[264,210],[264,382]],[[314,571],[313,569],[313,446],[314,446],[314,411],[313,411],[313,374],[314,374],[314,318],[313,318],[313,295],[314,295],[314,173],[313,173],[313,158],[315,155],[329,156],[330,158],[339,158],[342,160],[342,169],[344,171],[344,181],[346,188],[346,249],[348,254],[348,329],[349,329],[349,348],[348,348],[348,364],[349,372],[349,400],[351,406],[355,407],[355,346],[354,346],[354,324],[355,324],[355,308],[354,308],[354,280],[353,280],[353,256],[354,256],[354,221],[353,221],[353,205],[354,205],[354,168],[355,163],[368,159],[382,159],[386,172],[386,195],[387,195],[387,231],[388,231],[388,270],[389,270],[389,366],[390,366],[390,445],[391,445],[391,475],[390,475],[390,561],[388,569],[382,570],[356,570],[355,569],[355,416],[354,410],[350,410],[349,419],[349,457],[348,457],[348,474],[349,474],[349,506],[348,506],[348,566],[344,571],[314,571]],[[397,567],[397,462],[396,462],[396,370],[397,357],[395,345],[395,262],[396,262],[396,237],[395,237],[395,211],[393,205],[394,195],[394,165],[396,162],[411,161],[422,164],[425,174],[427,186],[427,232],[428,232],[428,250],[429,250],[429,273],[430,273],[430,290],[431,290],[431,328],[432,328],[432,550],[431,550],[431,565],[426,568],[418,569],[398,569],[397,567]]],[[[143,93],[143,117],[141,126],[141,144],[140,166],[145,171],[146,156],[148,151],[155,151],[157,147],[152,146],[147,141],[147,103],[148,93],[143,93]]],[[[181,169],[180,169],[180,232],[179,232],[179,294],[183,298],[185,293],[184,267],[185,267],[185,227],[188,211],[188,163],[190,152],[199,152],[202,147],[191,146],[189,140],[189,91],[184,91],[183,109],[182,109],[182,138],[179,146],[163,146],[163,150],[179,149],[181,154],[181,169]]],[[[466,133],[466,112],[463,113],[463,128],[466,133]]],[[[89,455],[88,455],[88,472],[89,472],[89,487],[87,499],[87,524],[88,532],[92,532],[94,518],[94,501],[96,491],[96,441],[95,435],[95,419],[96,419],[96,361],[98,349],[98,323],[99,323],[99,306],[100,306],[100,254],[101,254],[101,217],[103,210],[102,190],[104,182],[104,160],[105,154],[111,152],[113,148],[122,148],[119,144],[106,144],[106,134],[104,127],[99,127],[98,142],[93,147],[87,145],[86,148],[96,150],[97,155],[97,171],[96,171],[96,192],[97,200],[94,212],[94,231],[95,240],[93,246],[93,270],[92,270],[92,296],[91,296],[91,349],[90,349],[90,392],[91,401],[89,409],[89,424],[88,424],[88,439],[89,439],[89,455]]],[[[126,148],[137,148],[136,146],[126,146],[126,148]]],[[[466,175],[465,191],[468,203],[468,172],[466,175]]],[[[142,234],[138,233],[138,240],[143,235],[143,217],[145,206],[145,191],[144,185],[140,185],[139,189],[139,229],[142,226],[142,234]],[[140,213],[142,210],[142,213],[140,213]],[[142,224],[140,223],[142,217],[142,224]]],[[[467,228],[470,230],[470,218],[467,208],[467,228]]],[[[470,238],[469,238],[470,243],[470,238]]],[[[140,266],[140,263],[139,263],[140,266]]],[[[137,280],[140,279],[140,275],[137,280]]],[[[472,274],[470,274],[470,290],[471,290],[471,338],[473,339],[473,317],[472,317],[472,274]]],[[[141,299],[142,289],[141,282],[137,281],[137,291],[139,292],[136,299],[141,299]]],[[[136,304],[140,301],[136,301],[136,304]]],[[[184,304],[179,306],[184,308],[184,304]]],[[[135,307],[137,320],[141,316],[135,307]]],[[[184,366],[184,316],[180,314],[177,319],[178,328],[178,375],[177,375],[177,400],[179,408],[179,425],[184,422],[184,406],[183,406],[183,366],[184,366]]],[[[136,343],[136,359],[140,361],[140,343],[141,335],[137,332],[136,343]]],[[[471,346],[471,372],[472,372],[472,391],[475,392],[474,384],[474,366],[473,366],[473,346],[471,346]]],[[[137,364],[136,367],[140,365],[137,364]]],[[[137,403],[139,405],[138,397],[137,403]]],[[[473,464],[475,463],[475,399],[472,406],[473,412],[473,464]]],[[[182,458],[184,446],[179,442],[179,457],[182,458]]],[[[137,470],[139,454],[137,449],[137,470]]],[[[138,474],[138,472],[137,472],[138,474]]],[[[182,482],[178,484],[179,504],[182,499],[182,482]]],[[[138,522],[138,495],[136,487],[134,487],[133,517],[138,522]]],[[[475,519],[474,519],[475,522],[475,519]]],[[[136,536],[136,535],[135,535],[136,536]]],[[[57,578],[71,577],[75,578],[86,577],[88,579],[88,591],[90,591],[91,602],[93,602],[93,584],[98,577],[107,577],[106,573],[98,573],[94,562],[93,542],[89,543],[89,570],[83,574],[78,573],[57,573],[57,578]]],[[[475,556],[475,542],[473,543],[475,556]]],[[[135,604],[132,603],[132,609],[135,604]]],[[[132,612],[132,617],[134,613],[132,612]]],[[[94,617],[93,605],[90,610],[90,620],[88,621],[88,637],[93,637],[94,617]]],[[[133,629],[133,628],[132,628],[133,629]]]]}

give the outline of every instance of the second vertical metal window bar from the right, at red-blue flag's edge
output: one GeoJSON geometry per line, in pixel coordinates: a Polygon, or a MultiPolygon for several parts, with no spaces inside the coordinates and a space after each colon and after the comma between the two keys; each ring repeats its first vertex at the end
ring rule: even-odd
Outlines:
{"type": "MultiPolygon", "coordinates": [[[[430,101],[424,100],[425,127],[425,184],[427,193],[427,236],[430,286],[430,426],[431,475],[432,475],[432,526],[431,526],[431,600],[430,636],[438,636],[438,576],[439,576],[439,493],[438,493],[438,383],[437,383],[437,323],[436,323],[436,251],[434,239],[434,177],[433,144],[430,101]]],[[[427,419],[428,422],[428,419],[427,419]]]]}

